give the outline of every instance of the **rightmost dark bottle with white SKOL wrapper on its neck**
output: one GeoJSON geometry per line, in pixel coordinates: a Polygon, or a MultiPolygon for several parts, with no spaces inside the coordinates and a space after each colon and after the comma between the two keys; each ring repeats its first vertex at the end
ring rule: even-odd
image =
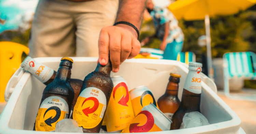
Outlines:
{"type": "Polygon", "coordinates": [[[171,130],[180,129],[183,117],[189,112],[200,112],[202,64],[190,62],[185,80],[181,104],[172,116],[171,130]]]}

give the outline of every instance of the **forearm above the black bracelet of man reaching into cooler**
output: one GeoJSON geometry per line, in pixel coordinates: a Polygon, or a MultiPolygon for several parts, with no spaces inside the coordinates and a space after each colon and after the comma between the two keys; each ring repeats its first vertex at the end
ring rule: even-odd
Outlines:
{"type": "Polygon", "coordinates": [[[119,0],[116,21],[127,21],[140,29],[146,0],[119,0]]]}

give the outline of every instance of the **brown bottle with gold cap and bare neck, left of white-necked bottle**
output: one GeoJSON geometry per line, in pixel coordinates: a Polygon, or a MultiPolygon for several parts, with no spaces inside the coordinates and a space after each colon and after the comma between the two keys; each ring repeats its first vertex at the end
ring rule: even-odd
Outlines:
{"type": "Polygon", "coordinates": [[[178,98],[180,78],[180,74],[170,73],[169,83],[167,85],[165,94],[162,95],[157,101],[159,109],[170,120],[181,104],[181,101],[178,98]]]}

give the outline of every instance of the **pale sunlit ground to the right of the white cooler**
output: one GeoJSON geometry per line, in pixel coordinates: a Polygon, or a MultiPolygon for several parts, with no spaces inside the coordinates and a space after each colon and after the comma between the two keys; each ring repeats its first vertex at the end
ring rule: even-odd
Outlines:
{"type": "Polygon", "coordinates": [[[256,101],[230,100],[218,91],[218,96],[240,117],[246,134],[256,134],[256,101]]]}

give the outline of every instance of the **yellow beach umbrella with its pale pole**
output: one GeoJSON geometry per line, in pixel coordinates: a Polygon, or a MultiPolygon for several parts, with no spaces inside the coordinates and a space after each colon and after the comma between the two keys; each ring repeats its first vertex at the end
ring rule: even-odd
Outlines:
{"type": "Polygon", "coordinates": [[[256,0],[177,0],[168,9],[179,20],[205,19],[208,76],[213,79],[210,19],[209,16],[228,15],[254,5],[256,0]]]}

